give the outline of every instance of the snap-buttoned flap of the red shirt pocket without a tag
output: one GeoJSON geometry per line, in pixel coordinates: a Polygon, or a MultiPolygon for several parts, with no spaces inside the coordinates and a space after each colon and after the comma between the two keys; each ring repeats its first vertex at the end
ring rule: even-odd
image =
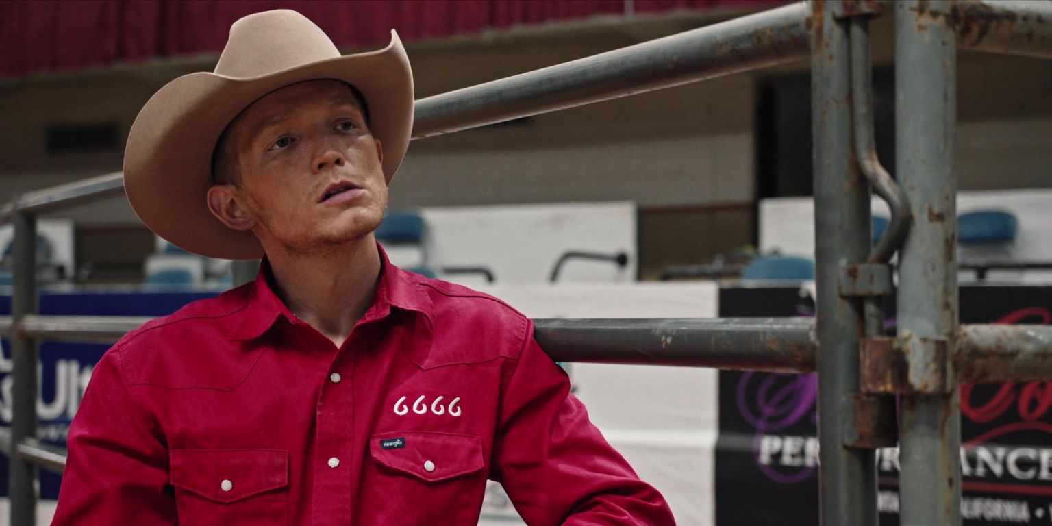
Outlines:
{"type": "Polygon", "coordinates": [[[282,449],[174,449],[171,485],[230,503],[288,484],[288,451],[282,449]]]}

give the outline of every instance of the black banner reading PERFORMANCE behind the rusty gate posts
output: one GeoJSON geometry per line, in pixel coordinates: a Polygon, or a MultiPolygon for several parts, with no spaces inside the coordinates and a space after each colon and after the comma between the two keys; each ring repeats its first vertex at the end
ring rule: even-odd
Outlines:
{"type": "MultiPolygon", "coordinates": [[[[894,333],[894,301],[885,328],[894,333]]],[[[723,288],[721,317],[813,316],[806,291],[723,288]]],[[[962,323],[1052,323],[1052,287],[960,289],[962,323]]],[[[720,372],[716,524],[818,523],[815,375],[720,372]]],[[[1052,524],[1052,383],[960,386],[965,525],[1052,524]]],[[[881,525],[898,524],[897,449],[877,451],[881,525]]]]}

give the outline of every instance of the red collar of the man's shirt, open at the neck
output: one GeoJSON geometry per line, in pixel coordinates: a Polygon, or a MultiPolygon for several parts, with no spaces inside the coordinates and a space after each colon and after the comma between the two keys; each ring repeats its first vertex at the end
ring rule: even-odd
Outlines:
{"type": "MultiPolygon", "coordinates": [[[[391,264],[387,251],[379,242],[377,250],[380,251],[380,282],[377,284],[372,305],[362,317],[362,322],[368,323],[386,318],[392,306],[420,312],[430,322],[428,312],[431,299],[419,285],[420,278],[391,264]]],[[[275,294],[270,286],[271,279],[270,264],[264,258],[256,275],[256,281],[245,286],[246,304],[235,313],[237,321],[234,322],[234,329],[229,333],[231,340],[259,338],[282,317],[292,324],[303,323],[275,294]]]]}

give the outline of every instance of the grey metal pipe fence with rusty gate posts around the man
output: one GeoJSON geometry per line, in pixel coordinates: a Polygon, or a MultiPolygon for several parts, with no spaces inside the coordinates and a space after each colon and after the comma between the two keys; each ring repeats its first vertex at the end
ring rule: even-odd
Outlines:
{"type": "MultiPolygon", "coordinates": [[[[538,320],[559,361],[818,372],[821,517],[875,526],[874,449],[897,441],[904,525],[959,524],[957,382],[1052,379],[1052,328],[957,325],[953,174],[958,48],[1052,58],[1052,2],[814,0],[417,101],[413,138],[811,59],[817,317],[538,320]],[[870,19],[894,17],[892,179],[873,147],[870,19]],[[869,195],[892,209],[871,250],[869,195]],[[883,337],[879,298],[895,290],[897,337],[883,337]],[[820,352],[821,347],[821,352],[820,352]],[[895,400],[899,409],[895,422],[895,400]],[[897,429],[897,437],[896,431],[897,429]]],[[[17,198],[11,338],[14,418],[11,524],[34,524],[41,446],[37,342],[115,341],[140,318],[38,315],[38,215],[119,195],[121,174],[17,198]]],[[[236,282],[248,279],[238,265],[236,282]]],[[[250,276],[249,276],[250,277],[250,276]]]]}

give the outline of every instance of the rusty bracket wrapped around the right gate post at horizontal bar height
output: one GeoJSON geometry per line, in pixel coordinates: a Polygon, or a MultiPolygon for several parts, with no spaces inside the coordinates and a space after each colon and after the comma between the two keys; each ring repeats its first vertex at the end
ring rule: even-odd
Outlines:
{"type": "Polygon", "coordinates": [[[947,341],[904,335],[858,343],[859,388],[869,393],[946,393],[952,387],[947,341]]]}

